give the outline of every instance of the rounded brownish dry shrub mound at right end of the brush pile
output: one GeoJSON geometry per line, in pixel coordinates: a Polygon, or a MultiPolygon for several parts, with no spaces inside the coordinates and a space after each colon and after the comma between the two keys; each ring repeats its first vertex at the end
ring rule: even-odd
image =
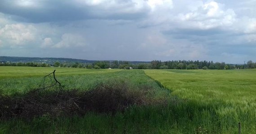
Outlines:
{"type": "Polygon", "coordinates": [[[81,98],[83,109],[97,112],[124,111],[130,105],[146,105],[150,99],[143,90],[130,86],[126,81],[108,81],[98,84],[81,98]],[[131,89],[133,88],[133,89],[131,89]]]}

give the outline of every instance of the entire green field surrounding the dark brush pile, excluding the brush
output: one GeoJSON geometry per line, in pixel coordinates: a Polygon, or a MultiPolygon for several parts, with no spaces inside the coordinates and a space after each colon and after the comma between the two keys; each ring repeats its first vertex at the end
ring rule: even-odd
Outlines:
{"type": "Polygon", "coordinates": [[[94,70],[0,67],[4,95],[27,92],[56,69],[64,89],[88,90],[100,81],[128,80],[154,88],[167,105],[132,106],[124,113],[88,112],[83,117],[44,115],[32,121],[0,121],[0,133],[234,134],[256,133],[256,70],[94,70]]]}

